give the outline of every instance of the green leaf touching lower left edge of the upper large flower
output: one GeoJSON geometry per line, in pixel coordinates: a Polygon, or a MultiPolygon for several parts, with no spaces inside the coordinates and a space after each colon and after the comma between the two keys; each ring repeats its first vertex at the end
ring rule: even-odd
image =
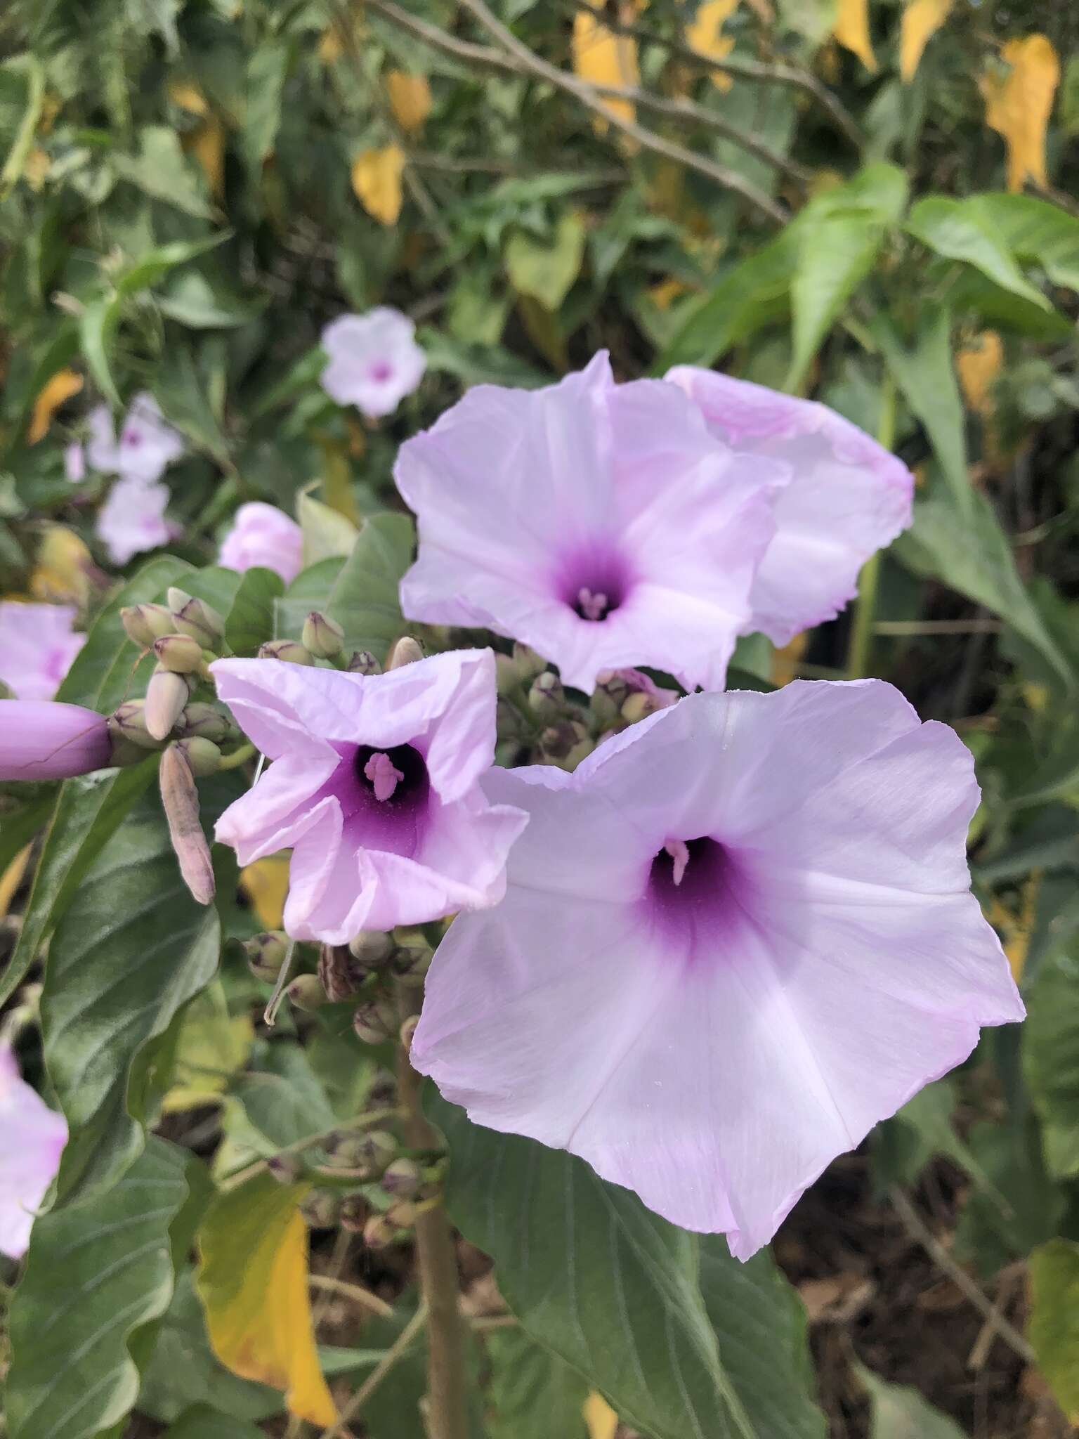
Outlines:
{"type": "Polygon", "coordinates": [[[387,511],[364,519],[327,604],[350,649],[370,649],[381,661],[400,636],[404,620],[397,591],[414,545],[410,515],[387,511]]]}

